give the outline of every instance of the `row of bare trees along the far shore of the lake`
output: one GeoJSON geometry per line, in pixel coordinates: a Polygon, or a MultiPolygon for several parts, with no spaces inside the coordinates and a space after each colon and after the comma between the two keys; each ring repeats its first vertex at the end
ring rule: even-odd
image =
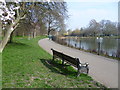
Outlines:
{"type": "Polygon", "coordinates": [[[68,34],[71,36],[117,36],[118,35],[118,23],[110,20],[101,20],[97,22],[92,19],[89,25],[85,28],[68,30],[68,34]]]}

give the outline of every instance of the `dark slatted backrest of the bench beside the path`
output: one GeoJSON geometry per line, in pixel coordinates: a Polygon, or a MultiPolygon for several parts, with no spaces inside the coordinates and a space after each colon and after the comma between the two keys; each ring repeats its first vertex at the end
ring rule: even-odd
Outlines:
{"type": "Polygon", "coordinates": [[[72,64],[75,67],[78,67],[78,65],[80,64],[80,61],[78,58],[73,58],[71,56],[68,56],[66,54],[63,54],[63,53],[58,52],[58,51],[53,50],[53,49],[51,49],[51,50],[53,51],[53,55],[61,58],[62,60],[65,60],[66,62],[72,64]]]}

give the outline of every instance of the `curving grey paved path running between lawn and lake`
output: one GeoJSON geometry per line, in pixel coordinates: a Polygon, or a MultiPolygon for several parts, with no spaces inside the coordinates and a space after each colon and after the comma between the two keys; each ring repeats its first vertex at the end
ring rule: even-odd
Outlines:
{"type": "Polygon", "coordinates": [[[50,49],[53,48],[70,56],[77,57],[83,63],[88,62],[90,64],[89,75],[92,76],[94,80],[104,84],[107,87],[118,88],[117,60],[83,52],[74,48],[69,48],[48,39],[42,39],[38,43],[50,54],[52,54],[50,49]]]}

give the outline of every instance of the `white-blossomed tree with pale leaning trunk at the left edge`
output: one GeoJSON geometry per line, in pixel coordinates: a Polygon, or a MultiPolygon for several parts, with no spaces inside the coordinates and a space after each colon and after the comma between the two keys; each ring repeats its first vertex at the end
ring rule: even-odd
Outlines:
{"type": "Polygon", "coordinates": [[[17,1],[6,3],[3,0],[0,2],[0,20],[2,22],[2,30],[6,30],[3,40],[0,42],[0,52],[3,51],[11,33],[19,25],[19,21],[24,18],[24,3],[21,3],[20,5],[17,1]]]}

